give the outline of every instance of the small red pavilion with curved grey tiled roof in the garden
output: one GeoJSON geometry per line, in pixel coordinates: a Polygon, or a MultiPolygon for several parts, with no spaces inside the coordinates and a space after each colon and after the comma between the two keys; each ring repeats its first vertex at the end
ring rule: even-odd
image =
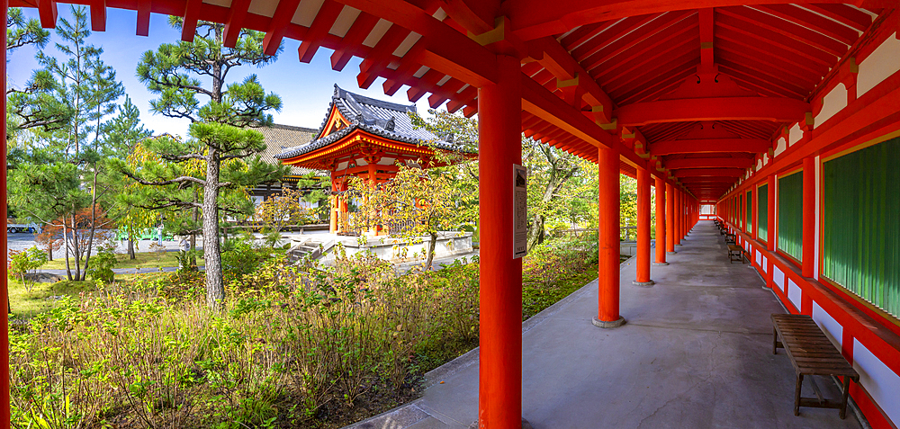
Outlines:
{"type": "Polygon", "coordinates": [[[315,138],[306,144],[289,147],[275,155],[293,169],[327,171],[331,175],[331,215],[329,231],[351,231],[347,185],[351,177],[370,183],[384,183],[399,170],[398,165],[422,168],[446,165],[439,151],[476,156],[457,145],[452,136],[438,137],[412,123],[415,104],[389,103],[350,93],[335,85],[328,112],[315,138]]]}

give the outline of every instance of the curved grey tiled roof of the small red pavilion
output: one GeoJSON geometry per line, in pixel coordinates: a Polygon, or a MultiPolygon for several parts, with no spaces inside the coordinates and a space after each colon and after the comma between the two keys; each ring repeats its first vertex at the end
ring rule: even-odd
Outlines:
{"type": "Polygon", "coordinates": [[[335,85],[328,113],[325,115],[325,120],[322,121],[318,134],[321,134],[328,125],[329,114],[333,108],[337,108],[344,118],[349,121],[347,127],[332,131],[331,134],[322,139],[312,140],[297,147],[289,147],[284,152],[275,155],[275,158],[292,158],[327,147],[354,130],[364,130],[385,139],[417,146],[472,153],[471,150],[457,146],[452,141],[438,138],[428,130],[416,128],[410,118],[410,113],[416,112],[415,104],[399,104],[375,100],[365,95],[351,93],[338,85],[335,85]]]}

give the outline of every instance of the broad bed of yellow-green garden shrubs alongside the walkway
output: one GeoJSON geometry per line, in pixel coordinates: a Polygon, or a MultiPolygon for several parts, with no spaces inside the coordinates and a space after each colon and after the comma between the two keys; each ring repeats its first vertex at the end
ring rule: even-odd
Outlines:
{"type": "MultiPolygon", "coordinates": [[[[333,267],[289,265],[236,245],[220,311],[203,273],[184,270],[100,283],[15,326],[14,427],[341,427],[416,398],[425,372],[478,344],[477,263],[397,273],[339,253],[333,267]]],[[[586,239],[532,252],[525,316],[596,276],[596,255],[586,239]]]]}

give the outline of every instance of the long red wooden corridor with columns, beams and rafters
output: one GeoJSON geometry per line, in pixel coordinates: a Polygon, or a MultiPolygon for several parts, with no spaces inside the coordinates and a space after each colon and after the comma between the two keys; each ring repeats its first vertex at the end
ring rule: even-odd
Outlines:
{"type": "MultiPolygon", "coordinates": [[[[4,2],[35,7],[44,27],[55,25],[55,0],[4,2]]],[[[224,23],[226,45],[242,28],[265,31],[270,53],[284,38],[302,40],[301,62],[330,55],[332,67],[342,70],[350,58],[362,58],[361,87],[377,81],[386,94],[405,89],[410,101],[428,96],[432,107],[479,114],[482,427],[518,426],[521,416],[521,260],[513,258],[509,225],[511,165],[521,164],[522,133],[600,166],[596,325],[624,321],[618,308],[622,172],[638,179],[635,282],[651,282],[652,184],[657,264],[666,263],[663,250],[677,251],[701,203],[716,204],[718,216],[745,233],[744,246],[770,286],[774,270],[802,269],[791,280],[804,297],[795,309],[809,314],[815,301],[844,326],[842,351],[851,362],[859,341],[894,377],[900,373],[896,314],[872,308],[854,298],[850,286],[824,277],[820,198],[825,162],[900,132],[896,0],[65,3],[87,4],[94,31],[105,29],[105,8],[115,7],[136,11],[141,35],[151,30],[150,13],[164,13],[184,17],[185,40],[198,20],[224,23]],[[775,201],[776,178],[801,166],[818,174],[806,174],[810,183],[803,186],[802,258],[779,253],[775,201]],[[770,195],[764,237],[758,211],[765,194],[755,192],[763,184],[770,195]],[[738,195],[743,202],[734,200],[738,195]]],[[[5,67],[5,59],[0,64],[5,67]]],[[[793,302],[786,290],[782,299],[793,302]]],[[[878,393],[895,386],[890,377],[851,391],[876,427],[900,425],[900,403],[878,393]]]]}

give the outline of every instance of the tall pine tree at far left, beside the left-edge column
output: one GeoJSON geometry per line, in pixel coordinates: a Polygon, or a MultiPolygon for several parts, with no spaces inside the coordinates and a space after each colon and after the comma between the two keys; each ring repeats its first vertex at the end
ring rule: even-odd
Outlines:
{"type": "Polygon", "coordinates": [[[106,168],[107,157],[114,155],[103,148],[102,130],[124,88],[112,67],[103,63],[103,49],[87,41],[91,31],[85,7],[73,6],[71,14],[71,19],[59,20],[56,30],[55,46],[62,58],[39,51],[36,58],[44,68],[35,73],[48,83],[41,96],[64,106],[66,121],[45,127],[40,133],[43,144],[22,156],[23,162],[10,174],[10,196],[32,219],[64,224],[67,275],[69,280],[83,281],[95,232],[110,226],[103,207],[112,203],[117,181],[106,168]],[[76,222],[77,214],[85,210],[88,220],[76,222]],[[86,230],[86,241],[76,238],[79,229],[86,230]],[[69,255],[75,256],[74,274],[69,255]]]}

